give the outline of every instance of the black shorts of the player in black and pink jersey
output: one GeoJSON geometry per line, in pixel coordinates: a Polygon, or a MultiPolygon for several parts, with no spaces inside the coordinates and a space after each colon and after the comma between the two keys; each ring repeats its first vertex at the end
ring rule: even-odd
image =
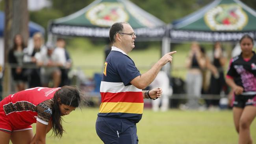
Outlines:
{"type": "Polygon", "coordinates": [[[234,107],[244,108],[247,105],[256,107],[256,95],[235,95],[235,100],[233,102],[234,107]]]}

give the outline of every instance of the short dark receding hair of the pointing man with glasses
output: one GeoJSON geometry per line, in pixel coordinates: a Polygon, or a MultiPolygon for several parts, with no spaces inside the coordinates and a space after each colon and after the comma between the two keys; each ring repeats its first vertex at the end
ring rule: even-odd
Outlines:
{"type": "MultiPolygon", "coordinates": [[[[109,40],[111,43],[115,42],[115,35],[121,33],[124,29],[122,24],[129,24],[128,22],[115,22],[109,30],[109,40]]],[[[130,25],[130,24],[129,24],[130,25]]]]}

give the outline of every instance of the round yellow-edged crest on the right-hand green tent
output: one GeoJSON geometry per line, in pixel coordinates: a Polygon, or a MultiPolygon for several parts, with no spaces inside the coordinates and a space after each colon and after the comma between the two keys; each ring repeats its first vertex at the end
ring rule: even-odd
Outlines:
{"type": "Polygon", "coordinates": [[[242,30],[248,23],[248,16],[237,4],[221,4],[204,15],[204,21],[211,30],[242,30]]]}

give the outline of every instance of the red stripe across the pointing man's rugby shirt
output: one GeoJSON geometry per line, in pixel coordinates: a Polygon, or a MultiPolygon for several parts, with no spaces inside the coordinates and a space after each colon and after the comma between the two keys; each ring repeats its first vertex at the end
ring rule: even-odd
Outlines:
{"type": "Polygon", "coordinates": [[[142,92],[100,92],[102,102],[143,103],[142,92]]]}

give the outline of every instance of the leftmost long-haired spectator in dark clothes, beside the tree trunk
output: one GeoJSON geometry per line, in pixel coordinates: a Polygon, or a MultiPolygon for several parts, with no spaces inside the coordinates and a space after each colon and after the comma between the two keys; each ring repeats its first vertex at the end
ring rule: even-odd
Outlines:
{"type": "Polygon", "coordinates": [[[13,40],[13,48],[9,51],[8,62],[11,65],[11,75],[17,90],[21,91],[25,89],[27,81],[25,69],[22,68],[25,45],[20,34],[15,35],[13,40]]]}

